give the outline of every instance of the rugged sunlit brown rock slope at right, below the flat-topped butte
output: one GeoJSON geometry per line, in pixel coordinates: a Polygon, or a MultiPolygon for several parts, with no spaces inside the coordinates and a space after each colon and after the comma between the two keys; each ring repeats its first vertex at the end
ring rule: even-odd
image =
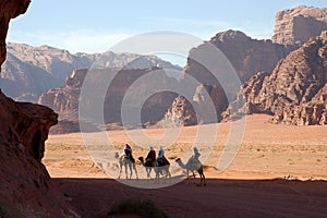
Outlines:
{"type": "Polygon", "coordinates": [[[233,110],[271,113],[275,123],[326,124],[326,83],[327,32],[323,32],[281,60],[271,75],[258,73],[245,83],[240,92],[245,107],[233,110]]]}

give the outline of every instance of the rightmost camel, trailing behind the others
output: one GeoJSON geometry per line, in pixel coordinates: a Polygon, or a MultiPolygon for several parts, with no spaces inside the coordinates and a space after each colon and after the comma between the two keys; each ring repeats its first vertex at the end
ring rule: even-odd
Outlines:
{"type": "Polygon", "coordinates": [[[186,169],[186,174],[187,174],[187,179],[189,179],[189,172],[191,171],[193,173],[193,178],[195,179],[195,171],[198,172],[199,175],[199,184],[197,184],[197,186],[202,186],[202,183],[204,184],[204,186],[206,186],[206,178],[204,175],[203,172],[203,165],[201,164],[198,157],[196,156],[192,156],[190,157],[189,161],[186,162],[186,165],[184,165],[181,160],[181,158],[178,158],[175,160],[175,162],[183,169],[186,169]]]}

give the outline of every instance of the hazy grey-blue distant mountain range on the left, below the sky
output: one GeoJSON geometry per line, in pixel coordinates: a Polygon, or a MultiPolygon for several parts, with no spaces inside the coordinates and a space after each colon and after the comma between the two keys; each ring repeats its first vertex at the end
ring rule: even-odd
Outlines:
{"type": "Polygon", "coordinates": [[[1,70],[0,85],[8,96],[17,100],[37,101],[50,88],[61,87],[76,69],[90,68],[96,61],[108,68],[150,68],[181,70],[156,56],[134,53],[75,53],[49,46],[25,44],[7,46],[7,61],[1,70]]]}

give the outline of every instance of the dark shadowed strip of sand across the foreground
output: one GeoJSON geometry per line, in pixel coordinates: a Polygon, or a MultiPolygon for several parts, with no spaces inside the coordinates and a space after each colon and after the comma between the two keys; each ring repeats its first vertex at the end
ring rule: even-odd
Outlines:
{"type": "Polygon", "coordinates": [[[152,199],[169,217],[326,217],[327,182],[298,180],[181,181],[137,189],[112,179],[53,179],[82,217],[106,216],[114,202],[152,199]]]}

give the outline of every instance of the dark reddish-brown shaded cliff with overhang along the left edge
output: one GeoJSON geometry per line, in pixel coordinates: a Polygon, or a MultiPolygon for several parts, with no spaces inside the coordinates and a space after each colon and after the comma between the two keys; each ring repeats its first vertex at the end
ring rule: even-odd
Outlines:
{"type": "MultiPolygon", "coordinates": [[[[9,22],[24,13],[28,3],[29,0],[0,3],[0,64],[5,58],[9,22]]],[[[15,102],[0,92],[0,120],[1,209],[16,217],[76,217],[40,162],[48,131],[57,123],[57,114],[44,106],[15,102]]]]}

